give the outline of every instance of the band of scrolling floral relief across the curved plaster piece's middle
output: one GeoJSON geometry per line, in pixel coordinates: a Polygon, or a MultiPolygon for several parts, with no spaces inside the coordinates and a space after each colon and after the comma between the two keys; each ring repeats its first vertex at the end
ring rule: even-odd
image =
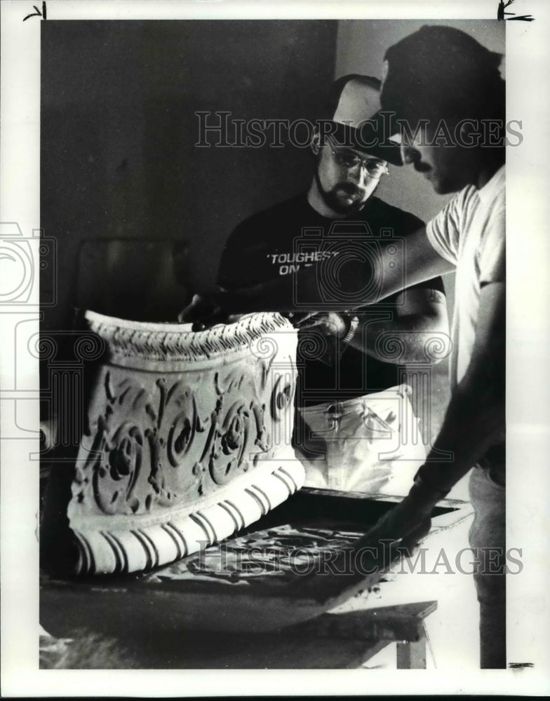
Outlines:
{"type": "Polygon", "coordinates": [[[270,395],[271,421],[280,421],[294,388],[288,367],[274,372],[272,362],[257,358],[254,373],[248,359],[214,366],[193,382],[175,372],[106,365],[88,411],[93,428],[81,446],[77,503],[83,509],[91,501],[108,515],[172,508],[208,496],[259,455],[273,454],[265,399],[270,395]]]}

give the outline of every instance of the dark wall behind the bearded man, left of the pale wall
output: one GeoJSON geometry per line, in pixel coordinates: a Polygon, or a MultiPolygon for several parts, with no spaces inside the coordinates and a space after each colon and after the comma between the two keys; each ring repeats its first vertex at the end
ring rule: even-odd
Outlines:
{"type": "MultiPolygon", "coordinates": [[[[67,325],[79,288],[109,297],[113,276],[135,287],[135,304],[146,290],[181,295],[184,306],[213,284],[232,228],[305,189],[311,161],[288,144],[196,147],[194,113],[314,118],[336,34],[332,21],[43,22],[41,226],[58,240],[58,304],[44,310],[46,328],[67,325]],[[149,243],[93,243],[135,238],[149,243]],[[158,253],[174,240],[187,242],[176,275],[158,253]]],[[[166,320],[172,313],[167,304],[166,320]]]]}

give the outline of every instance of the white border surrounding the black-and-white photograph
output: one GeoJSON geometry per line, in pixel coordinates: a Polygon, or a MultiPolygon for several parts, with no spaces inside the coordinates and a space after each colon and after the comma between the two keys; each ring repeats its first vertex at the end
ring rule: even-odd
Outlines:
{"type": "MultiPolygon", "coordinates": [[[[520,670],[466,676],[377,673],[368,670],[188,671],[39,670],[38,668],[38,362],[16,357],[15,329],[39,329],[38,284],[23,308],[0,308],[1,448],[1,665],[6,696],[68,695],[342,695],[550,692],[550,470],[549,275],[546,226],[550,84],[547,0],[518,0],[516,13],[535,22],[507,22],[507,109],[522,121],[523,143],[507,153],[508,351],[507,455],[508,542],[523,550],[523,572],[509,578],[509,660],[530,662],[520,670]],[[544,154],[544,155],[543,155],[544,154]],[[17,363],[17,378],[15,364],[17,363]],[[21,402],[18,404],[17,402],[21,402]],[[20,435],[12,440],[12,425],[20,435]],[[26,437],[28,435],[28,437],[26,437]],[[391,676],[388,676],[391,674],[391,676]],[[275,682],[276,680],[276,682],[275,682]]],[[[83,19],[494,19],[497,0],[362,0],[237,2],[222,0],[85,0],[46,2],[48,20],[83,19]]],[[[41,11],[42,3],[36,2],[41,11]]],[[[32,240],[40,226],[40,17],[33,0],[1,3],[0,221],[17,222],[32,240]]],[[[47,20],[46,20],[47,21],[47,20]]],[[[1,261],[0,261],[1,263],[1,261]]]]}

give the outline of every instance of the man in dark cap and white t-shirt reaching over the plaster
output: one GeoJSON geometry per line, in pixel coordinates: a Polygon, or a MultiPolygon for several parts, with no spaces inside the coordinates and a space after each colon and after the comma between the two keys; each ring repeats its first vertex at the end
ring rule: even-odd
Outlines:
{"type": "MultiPolygon", "coordinates": [[[[422,27],[391,46],[384,60],[382,109],[401,121],[405,163],[438,193],[457,195],[407,239],[405,270],[391,256],[369,271],[372,304],[400,287],[456,271],[452,325],[452,395],[443,425],[408,496],[380,519],[363,542],[415,545],[430,528],[434,505],[471,468],[475,519],[470,544],[480,602],[481,667],[506,667],[505,585],[505,83],[502,57],[469,34],[422,27]],[[448,456],[448,459],[443,459],[448,456]]],[[[342,275],[343,297],[365,286],[342,275]]],[[[318,276],[294,276],[246,290],[196,299],[184,319],[220,320],[228,313],[292,310],[296,290],[323,308],[318,276]]],[[[359,544],[361,545],[361,543],[359,544]]]]}

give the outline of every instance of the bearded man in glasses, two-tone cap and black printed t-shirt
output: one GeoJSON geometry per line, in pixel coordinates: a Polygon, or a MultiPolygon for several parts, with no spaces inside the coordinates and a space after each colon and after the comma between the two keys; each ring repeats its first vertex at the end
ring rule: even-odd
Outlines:
{"type": "MultiPolygon", "coordinates": [[[[398,259],[423,222],[374,196],[388,163],[401,165],[398,147],[374,143],[372,119],[368,133],[359,128],[377,114],[379,89],[367,76],[335,81],[330,122],[311,143],[309,191],[236,227],[222,254],[221,287],[251,287],[302,266],[318,266],[337,285],[346,266],[361,265],[380,242],[398,259]]],[[[360,311],[329,307],[290,315],[300,329],[295,449],[305,484],[405,494],[425,451],[400,364],[434,360],[427,341],[448,330],[441,278],[360,311]]]]}

